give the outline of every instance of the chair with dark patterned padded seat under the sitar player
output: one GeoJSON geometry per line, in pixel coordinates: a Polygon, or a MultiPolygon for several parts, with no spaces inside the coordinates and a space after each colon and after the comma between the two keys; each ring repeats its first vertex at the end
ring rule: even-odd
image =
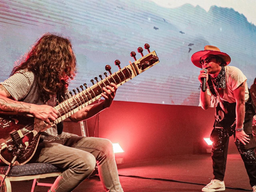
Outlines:
{"type": "MultiPolygon", "coordinates": [[[[0,179],[4,175],[9,166],[0,166],[0,179]]],[[[41,183],[39,179],[57,177],[61,174],[61,170],[49,163],[28,163],[25,165],[15,165],[12,167],[9,176],[4,180],[4,189],[1,192],[12,192],[10,181],[34,180],[31,192],[36,192],[37,186],[51,187],[52,183],[41,183]]]]}

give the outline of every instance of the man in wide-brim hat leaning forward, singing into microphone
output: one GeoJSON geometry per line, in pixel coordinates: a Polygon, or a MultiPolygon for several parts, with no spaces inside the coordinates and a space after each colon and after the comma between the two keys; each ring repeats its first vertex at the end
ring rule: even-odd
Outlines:
{"type": "MultiPolygon", "coordinates": [[[[211,133],[213,180],[202,191],[225,190],[229,137],[244,161],[250,185],[256,192],[256,142],[252,134],[252,118],[255,106],[242,71],[227,66],[231,58],[218,47],[206,45],[203,51],[191,56],[196,67],[203,68],[198,76],[201,82],[200,103],[203,109],[215,107],[215,122],[211,133]],[[206,70],[205,70],[206,69],[206,70]],[[205,82],[205,85],[203,83],[205,82]],[[207,83],[206,83],[207,82],[207,83]],[[206,90],[203,90],[206,87],[206,90]]],[[[239,175],[237,175],[239,179],[239,175]]]]}

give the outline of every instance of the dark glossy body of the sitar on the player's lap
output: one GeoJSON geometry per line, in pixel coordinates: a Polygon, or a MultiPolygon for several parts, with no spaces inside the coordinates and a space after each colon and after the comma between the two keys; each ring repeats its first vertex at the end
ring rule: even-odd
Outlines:
{"type": "Polygon", "coordinates": [[[26,164],[35,154],[40,134],[34,131],[34,118],[0,115],[0,164],[12,162],[18,146],[22,144],[16,164],[26,164]]]}

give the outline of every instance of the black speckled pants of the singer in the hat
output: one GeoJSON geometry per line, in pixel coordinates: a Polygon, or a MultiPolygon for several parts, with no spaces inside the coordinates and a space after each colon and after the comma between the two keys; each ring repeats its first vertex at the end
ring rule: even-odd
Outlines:
{"type": "MultiPolygon", "coordinates": [[[[256,186],[256,158],[255,158],[255,140],[252,134],[250,142],[243,145],[239,140],[235,142],[236,147],[241,155],[245,169],[250,179],[250,185],[256,186]]],[[[213,129],[211,133],[212,144],[212,162],[214,179],[223,181],[226,170],[228,143],[230,134],[227,129],[213,129]]],[[[235,137],[235,134],[234,134],[235,137]]],[[[238,175],[239,176],[239,175],[238,175]]]]}

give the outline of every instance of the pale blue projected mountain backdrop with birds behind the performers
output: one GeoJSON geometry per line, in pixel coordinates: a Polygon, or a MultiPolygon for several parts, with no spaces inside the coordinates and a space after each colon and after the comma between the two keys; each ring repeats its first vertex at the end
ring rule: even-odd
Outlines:
{"type": "MultiPolygon", "coordinates": [[[[1,81],[14,62],[46,32],[68,36],[77,56],[76,89],[99,74],[129,64],[131,51],[145,43],[159,63],[119,87],[115,100],[198,106],[199,68],[190,61],[205,45],[218,46],[243,71],[250,86],[255,78],[256,27],[234,9],[185,4],[174,9],[150,1],[8,1],[0,7],[1,81]]],[[[147,50],[144,50],[146,53],[147,50]]],[[[137,59],[140,54],[137,53],[137,59]]]]}

